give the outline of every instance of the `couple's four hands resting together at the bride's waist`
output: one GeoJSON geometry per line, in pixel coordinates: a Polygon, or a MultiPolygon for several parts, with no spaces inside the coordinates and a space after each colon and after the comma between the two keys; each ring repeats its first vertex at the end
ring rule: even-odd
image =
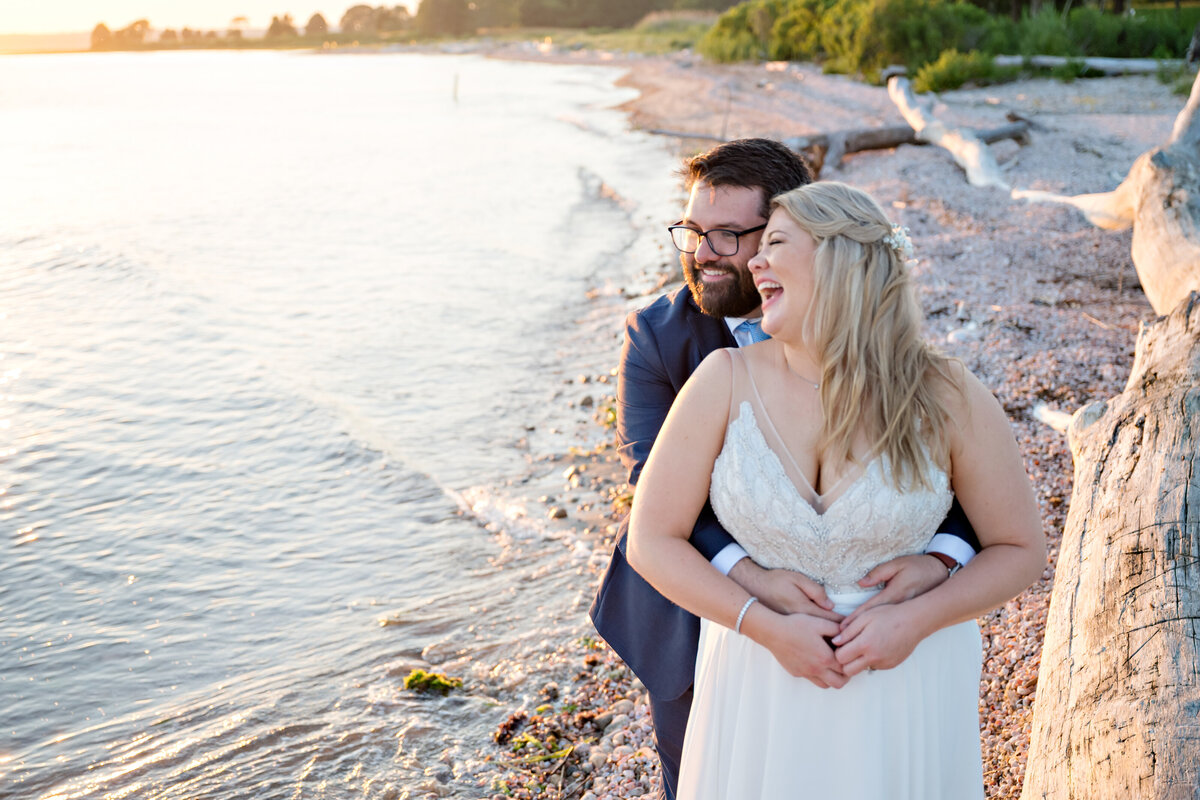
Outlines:
{"type": "Polygon", "coordinates": [[[926,632],[905,602],[947,575],[938,559],[924,554],[881,564],[859,585],[883,584],[883,589],[845,616],[833,610],[824,588],[805,575],[764,570],[743,559],[730,577],[766,606],[766,613],[756,616],[754,638],[790,674],[821,688],[841,688],[865,669],[890,669],[912,654],[926,632]]]}

